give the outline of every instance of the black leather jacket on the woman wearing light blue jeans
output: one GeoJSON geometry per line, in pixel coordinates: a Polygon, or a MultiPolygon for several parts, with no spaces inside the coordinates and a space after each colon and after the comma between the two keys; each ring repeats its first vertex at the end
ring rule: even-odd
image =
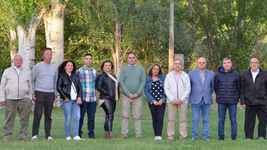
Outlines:
{"type": "Polygon", "coordinates": [[[74,72],[72,72],[70,76],[66,72],[58,74],[56,88],[60,94],[60,98],[63,98],[63,100],[69,98],[69,100],[71,100],[70,91],[72,82],[75,85],[75,89],[77,91],[77,98],[81,97],[83,99],[83,88],[78,75],[74,72]]]}

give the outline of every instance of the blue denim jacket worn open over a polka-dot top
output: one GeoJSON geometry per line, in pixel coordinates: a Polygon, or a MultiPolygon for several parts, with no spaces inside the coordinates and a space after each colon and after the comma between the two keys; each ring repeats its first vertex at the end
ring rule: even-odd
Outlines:
{"type": "MultiPolygon", "coordinates": [[[[165,76],[164,75],[158,75],[158,80],[162,85],[162,88],[164,89],[164,81],[165,81],[165,76]]],[[[153,80],[152,80],[152,75],[150,77],[148,77],[146,79],[146,85],[145,85],[145,94],[147,96],[147,102],[152,104],[154,101],[154,98],[151,94],[151,84],[152,84],[153,80]]],[[[166,94],[164,92],[164,94],[162,95],[161,99],[163,100],[163,102],[166,102],[166,94]]]]}

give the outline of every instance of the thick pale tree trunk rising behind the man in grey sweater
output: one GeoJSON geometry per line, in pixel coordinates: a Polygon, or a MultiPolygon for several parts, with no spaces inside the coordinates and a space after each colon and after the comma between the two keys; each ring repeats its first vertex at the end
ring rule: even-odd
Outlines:
{"type": "Polygon", "coordinates": [[[50,12],[44,15],[46,47],[52,48],[52,63],[59,66],[64,59],[64,19],[68,0],[52,0],[50,12]]]}

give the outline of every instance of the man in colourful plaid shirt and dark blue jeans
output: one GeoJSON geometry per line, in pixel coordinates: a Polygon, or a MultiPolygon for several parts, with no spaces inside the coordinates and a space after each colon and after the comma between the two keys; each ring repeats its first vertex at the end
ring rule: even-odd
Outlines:
{"type": "Polygon", "coordinates": [[[93,57],[91,54],[86,54],[84,56],[83,62],[85,62],[85,65],[76,71],[76,73],[79,75],[80,82],[83,87],[83,104],[81,105],[79,137],[82,138],[83,118],[85,112],[87,112],[88,137],[90,139],[96,139],[94,129],[95,129],[95,113],[96,113],[95,83],[97,78],[97,71],[96,69],[91,67],[93,63],[93,57]]]}

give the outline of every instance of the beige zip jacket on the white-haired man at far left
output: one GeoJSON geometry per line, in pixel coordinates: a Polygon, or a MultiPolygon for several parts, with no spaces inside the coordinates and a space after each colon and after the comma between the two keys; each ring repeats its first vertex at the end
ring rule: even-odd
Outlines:
{"type": "Polygon", "coordinates": [[[19,76],[14,67],[5,69],[0,85],[0,102],[5,99],[30,98],[32,100],[32,77],[27,68],[21,68],[19,76]]]}

